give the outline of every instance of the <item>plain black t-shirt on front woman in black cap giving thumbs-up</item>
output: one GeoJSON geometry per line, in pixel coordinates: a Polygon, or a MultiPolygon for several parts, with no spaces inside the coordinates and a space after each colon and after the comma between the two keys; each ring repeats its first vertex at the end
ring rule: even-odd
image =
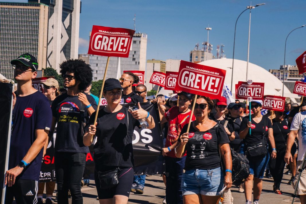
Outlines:
{"type": "MultiPolygon", "coordinates": [[[[140,126],[139,121],[133,118],[123,106],[114,113],[105,112],[104,107],[100,108],[97,119],[97,142],[94,145],[96,168],[102,170],[106,166],[118,166],[121,157],[120,166],[133,167],[132,136],[134,128],[140,126]],[[127,129],[128,118],[129,128],[127,129]]],[[[93,124],[95,114],[96,112],[91,115],[85,127],[86,131],[93,124]]]]}

